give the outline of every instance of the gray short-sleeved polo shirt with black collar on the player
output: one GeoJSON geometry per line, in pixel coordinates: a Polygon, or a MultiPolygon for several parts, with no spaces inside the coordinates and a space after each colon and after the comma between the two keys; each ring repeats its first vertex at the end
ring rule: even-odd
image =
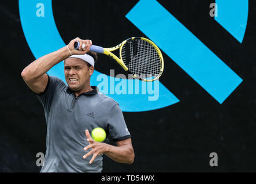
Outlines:
{"type": "Polygon", "coordinates": [[[101,127],[107,137],[120,141],[131,137],[123,113],[116,101],[92,91],[76,97],[59,78],[49,76],[47,87],[36,94],[44,108],[47,124],[46,155],[40,172],[101,172],[102,155],[89,164],[92,155],[83,159],[88,151],[86,129],[101,127]]]}

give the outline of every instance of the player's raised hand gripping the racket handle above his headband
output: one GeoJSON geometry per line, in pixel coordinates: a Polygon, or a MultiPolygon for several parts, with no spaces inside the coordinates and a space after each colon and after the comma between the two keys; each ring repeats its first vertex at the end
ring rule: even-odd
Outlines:
{"type": "Polygon", "coordinates": [[[82,40],[79,37],[77,37],[76,39],[73,39],[69,42],[68,48],[69,48],[69,51],[71,51],[72,55],[82,55],[90,51],[91,45],[92,45],[91,40],[82,40]],[[74,44],[76,41],[79,41],[80,43],[78,49],[75,49],[74,47],[74,44]],[[83,48],[83,44],[85,45],[84,48],[83,48]]]}

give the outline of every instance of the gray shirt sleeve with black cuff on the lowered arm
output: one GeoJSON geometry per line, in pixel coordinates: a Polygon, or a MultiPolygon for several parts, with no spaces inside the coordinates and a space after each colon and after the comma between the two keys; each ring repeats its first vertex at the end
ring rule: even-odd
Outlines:
{"type": "Polygon", "coordinates": [[[125,124],[123,112],[117,103],[109,112],[107,127],[109,135],[112,137],[113,141],[120,141],[132,137],[125,124]]]}

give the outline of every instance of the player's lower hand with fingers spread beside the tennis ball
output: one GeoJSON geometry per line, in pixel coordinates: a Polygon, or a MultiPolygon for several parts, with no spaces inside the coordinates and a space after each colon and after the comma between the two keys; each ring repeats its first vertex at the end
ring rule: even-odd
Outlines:
{"type": "Polygon", "coordinates": [[[89,151],[86,155],[84,155],[83,159],[86,159],[88,156],[93,154],[93,156],[89,162],[91,164],[98,155],[101,155],[106,151],[107,144],[99,143],[99,142],[95,141],[94,139],[92,139],[88,130],[86,130],[86,137],[87,137],[87,141],[88,141],[89,145],[87,145],[87,147],[84,147],[84,151],[87,151],[89,149],[91,149],[91,151],[89,151]]]}

